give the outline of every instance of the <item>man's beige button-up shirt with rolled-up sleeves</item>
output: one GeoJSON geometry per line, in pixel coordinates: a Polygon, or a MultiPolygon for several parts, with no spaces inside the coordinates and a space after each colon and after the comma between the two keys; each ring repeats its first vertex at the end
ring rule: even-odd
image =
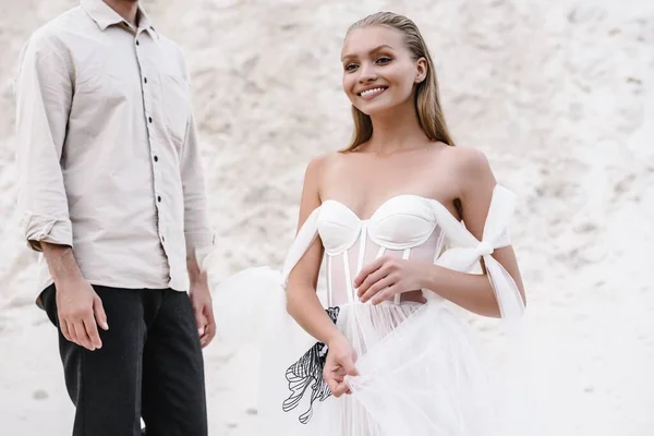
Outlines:
{"type": "Polygon", "coordinates": [[[179,47],[141,9],[135,28],[83,0],[32,36],[15,87],[29,245],[71,245],[94,284],[187,290],[214,235],[179,47]]]}

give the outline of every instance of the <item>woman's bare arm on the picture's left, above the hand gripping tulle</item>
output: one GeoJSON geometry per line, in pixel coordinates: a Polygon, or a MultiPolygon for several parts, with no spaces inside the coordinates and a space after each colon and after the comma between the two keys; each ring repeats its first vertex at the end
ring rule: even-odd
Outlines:
{"type": "MultiPolygon", "coordinates": [[[[320,206],[319,179],[324,160],[325,157],[317,157],[306,168],[298,229],[302,227],[311,213],[320,206]]],[[[325,312],[316,294],[322,259],[323,244],[317,238],[289,275],[287,311],[311,336],[329,343],[341,334],[325,312]]]]}

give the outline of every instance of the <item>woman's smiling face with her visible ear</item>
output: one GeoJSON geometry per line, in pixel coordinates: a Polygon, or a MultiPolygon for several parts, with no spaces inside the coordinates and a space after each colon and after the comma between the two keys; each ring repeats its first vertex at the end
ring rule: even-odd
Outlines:
{"type": "Polygon", "coordinates": [[[341,53],[343,90],[363,113],[374,116],[410,104],[424,81],[427,62],[414,59],[400,31],[371,25],[354,28],[341,53]]]}

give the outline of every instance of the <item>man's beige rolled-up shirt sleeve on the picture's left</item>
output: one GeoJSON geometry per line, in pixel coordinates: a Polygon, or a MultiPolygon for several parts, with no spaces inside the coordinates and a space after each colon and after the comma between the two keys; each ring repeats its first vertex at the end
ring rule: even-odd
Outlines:
{"type": "Polygon", "coordinates": [[[53,37],[36,33],[21,52],[15,80],[19,208],[28,245],[73,244],[61,170],[72,100],[71,69],[53,37]]]}

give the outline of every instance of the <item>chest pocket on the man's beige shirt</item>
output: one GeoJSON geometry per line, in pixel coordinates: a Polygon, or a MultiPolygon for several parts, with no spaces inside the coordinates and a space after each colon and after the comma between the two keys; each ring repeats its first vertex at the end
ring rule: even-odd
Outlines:
{"type": "Polygon", "coordinates": [[[160,73],[164,122],[178,145],[182,145],[189,121],[190,89],[181,77],[168,72],[160,73]]]}

